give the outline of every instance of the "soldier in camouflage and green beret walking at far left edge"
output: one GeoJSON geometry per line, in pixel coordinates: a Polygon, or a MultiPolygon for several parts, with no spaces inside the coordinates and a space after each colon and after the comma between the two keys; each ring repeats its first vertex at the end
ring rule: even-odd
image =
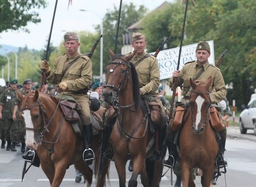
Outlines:
{"type": "Polygon", "coordinates": [[[11,79],[10,87],[4,89],[0,96],[0,118],[3,119],[2,124],[4,125],[4,134],[7,141],[7,151],[17,151],[15,145],[18,142],[18,125],[16,121],[12,120],[14,104],[17,98],[15,92],[17,85],[18,80],[11,79]]]}

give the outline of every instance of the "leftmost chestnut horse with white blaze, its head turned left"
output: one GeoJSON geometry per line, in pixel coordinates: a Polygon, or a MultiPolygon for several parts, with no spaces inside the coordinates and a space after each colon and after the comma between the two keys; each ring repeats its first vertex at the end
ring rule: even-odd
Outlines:
{"type": "MultiPolygon", "coordinates": [[[[74,132],[71,124],[64,118],[58,105],[59,99],[37,90],[26,96],[18,91],[16,93],[22,101],[19,116],[26,128],[26,146],[36,150],[51,187],[60,186],[66,169],[72,164],[82,172],[86,187],[90,187],[93,171],[82,158],[84,139],[74,132]]],[[[102,108],[99,111],[102,113],[102,108]]],[[[92,140],[95,170],[99,160],[99,137],[99,133],[96,133],[92,140]]],[[[98,187],[106,186],[105,179],[108,177],[109,163],[104,161],[103,164],[104,174],[97,179],[98,187]]]]}

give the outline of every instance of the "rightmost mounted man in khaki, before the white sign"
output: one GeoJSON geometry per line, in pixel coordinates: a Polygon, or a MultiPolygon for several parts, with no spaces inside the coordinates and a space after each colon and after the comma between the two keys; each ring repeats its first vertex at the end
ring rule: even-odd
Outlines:
{"type": "MultiPolygon", "coordinates": [[[[200,41],[196,46],[196,61],[185,63],[180,71],[175,70],[172,74],[172,77],[169,79],[169,86],[172,87],[173,78],[176,77],[178,79],[178,86],[183,85],[182,91],[182,102],[188,102],[190,98],[190,84],[189,80],[200,79],[202,81],[207,81],[210,76],[212,76],[212,84],[210,86],[210,98],[212,104],[217,104],[222,101],[227,94],[227,89],[224,83],[224,79],[218,67],[209,63],[208,58],[211,55],[210,45],[206,41],[200,41]],[[212,89],[215,87],[216,92],[212,92],[212,89]]],[[[169,154],[174,157],[169,156],[168,160],[164,161],[164,165],[172,166],[175,163],[176,158],[176,145],[174,142],[174,132],[170,133],[171,136],[168,136],[167,146],[169,150],[169,154]]],[[[221,136],[221,147],[225,150],[225,142],[226,142],[226,129],[220,132],[221,136]]],[[[224,150],[222,150],[224,152],[224,150]]],[[[226,161],[222,161],[219,159],[220,165],[226,165],[226,161]]]]}

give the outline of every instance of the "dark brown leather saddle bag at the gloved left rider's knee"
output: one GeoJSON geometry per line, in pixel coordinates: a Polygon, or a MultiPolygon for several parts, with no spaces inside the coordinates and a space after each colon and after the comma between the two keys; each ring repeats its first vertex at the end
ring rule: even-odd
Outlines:
{"type": "Polygon", "coordinates": [[[76,102],[68,101],[66,99],[62,100],[60,101],[60,108],[68,122],[75,123],[80,118],[76,110],[76,102]]]}

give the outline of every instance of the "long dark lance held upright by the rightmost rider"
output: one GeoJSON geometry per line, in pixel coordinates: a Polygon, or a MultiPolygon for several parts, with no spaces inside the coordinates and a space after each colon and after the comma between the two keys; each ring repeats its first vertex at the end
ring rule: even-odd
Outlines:
{"type": "MultiPolygon", "coordinates": [[[[179,70],[179,66],[180,66],[180,56],[181,56],[182,42],[183,42],[183,37],[184,37],[184,30],[185,30],[187,10],[188,10],[188,0],[186,1],[184,20],[183,20],[183,26],[182,26],[182,33],[181,33],[181,38],[180,38],[180,50],[179,50],[178,63],[177,63],[177,69],[176,70],[179,70]]],[[[173,93],[172,93],[172,101],[170,103],[171,108],[170,108],[170,113],[169,113],[169,122],[170,122],[170,120],[172,118],[172,112],[173,112],[173,106],[174,106],[174,98],[175,98],[175,93],[176,93],[177,86],[178,86],[178,78],[173,77],[173,84],[172,84],[172,92],[173,93]]]]}

